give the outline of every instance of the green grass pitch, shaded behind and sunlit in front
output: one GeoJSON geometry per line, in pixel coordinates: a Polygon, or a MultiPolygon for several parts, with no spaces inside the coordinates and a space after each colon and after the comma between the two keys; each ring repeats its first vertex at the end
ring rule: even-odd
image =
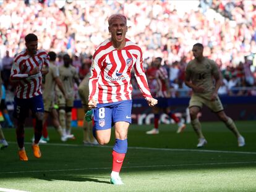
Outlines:
{"type": "MultiPolygon", "coordinates": [[[[62,143],[49,128],[50,142],[41,144],[41,159],[33,157],[32,128],[25,129],[29,161],[20,162],[15,130],[4,129],[9,147],[0,151],[0,188],[23,191],[256,191],[256,122],[236,122],[246,146],[221,122],[202,123],[208,144],[195,148],[190,127],[176,134],[175,125],[160,125],[159,135],[146,135],[152,126],[131,125],[129,149],[121,171],[125,185],[109,184],[114,138],[106,147],[62,143]]],[[[1,190],[0,190],[1,191],[1,190]]]]}

